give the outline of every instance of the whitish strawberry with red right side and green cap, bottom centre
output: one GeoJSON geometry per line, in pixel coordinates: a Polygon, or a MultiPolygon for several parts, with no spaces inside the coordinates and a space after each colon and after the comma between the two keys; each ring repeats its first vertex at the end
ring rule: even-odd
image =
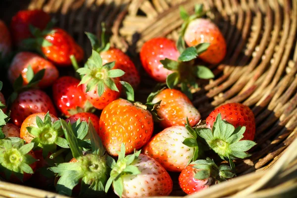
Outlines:
{"type": "Polygon", "coordinates": [[[172,191],[172,180],[166,170],[153,158],[140,151],[125,157],[125,146],[117,162],[112,159],[110,178],[105,192],[112,185],[120,198],[168,196],[172,191]]]}

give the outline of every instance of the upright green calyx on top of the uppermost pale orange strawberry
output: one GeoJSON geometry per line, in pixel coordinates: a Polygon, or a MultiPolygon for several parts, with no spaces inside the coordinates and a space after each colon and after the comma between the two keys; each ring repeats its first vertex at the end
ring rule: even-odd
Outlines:
{"type": "Polygon", "coordinates": [[[180,7],[180,16],[185,21],[181,27],[181,32],[180,32],[181,37],[183,37],[185,35],[186,29],[187,29],[189,23],[197,18],[202,17],[203,15],[205,15],[205,11],[203,11],[203,4],[195,5],[195,13],[193,15],[189,15],[189,13],[186,11],[186,9],[181,6],[180,7]]]}

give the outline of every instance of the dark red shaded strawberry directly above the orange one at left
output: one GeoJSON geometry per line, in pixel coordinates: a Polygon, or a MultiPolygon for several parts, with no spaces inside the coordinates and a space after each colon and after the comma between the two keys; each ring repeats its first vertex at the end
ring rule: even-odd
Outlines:
{"type": "Polygon", "coordinates": [[[49,96],[41,90],[28,90],[18,95],[10,107],[11,119],[16,126],[21,126],[23,121],[31,114],[50,112],[57,115],[49,96]]]}

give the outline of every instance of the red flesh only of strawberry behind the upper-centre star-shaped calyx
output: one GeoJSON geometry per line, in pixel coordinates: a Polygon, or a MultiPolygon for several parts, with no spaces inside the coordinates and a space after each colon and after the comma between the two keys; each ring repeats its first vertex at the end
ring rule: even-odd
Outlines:
{"type": "Polygon", "coordinates": [[[120,77],[122,81],[129,83],[136,89],[140,83],[140,75],[134,63],[123,51],[116,48],[110,48],[107,51],[100,52],[103,64],[115,61],[113,69],[121,69],[125,72],[120,77]]]}

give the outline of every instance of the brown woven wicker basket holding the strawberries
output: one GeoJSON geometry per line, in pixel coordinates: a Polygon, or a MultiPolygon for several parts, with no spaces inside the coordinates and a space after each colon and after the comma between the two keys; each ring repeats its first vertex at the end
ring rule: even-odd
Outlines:
{"type": "MultiPolygon", "coordinates": [[[[236,162],[238,178],[188,197],[296,197],[297,0],[31,0],[24,6],[42,8],[59,19],[58,25],[87,54],[91,48],[84,32],[100,36],[104,21],[113,34],[112,45],[126,51],[141,70],[142,89],[136,95],[142,100],[154,82],[141,68],[137,52],[153,37],[177,39],[182,24],[179,6],[193,12],[196,3],[210,10],[208,17],[223,32],[228,52],[212,68],[216,78],[195,94],[194,104],[202,118],[226,102],[250,106],[257,146],[250,158],[236,162]]],[[[174,182],[172,195],[184,196],[174,182]]],[[[5,182],[0,182],[0,197],[63,198],[5,182]]]]}

